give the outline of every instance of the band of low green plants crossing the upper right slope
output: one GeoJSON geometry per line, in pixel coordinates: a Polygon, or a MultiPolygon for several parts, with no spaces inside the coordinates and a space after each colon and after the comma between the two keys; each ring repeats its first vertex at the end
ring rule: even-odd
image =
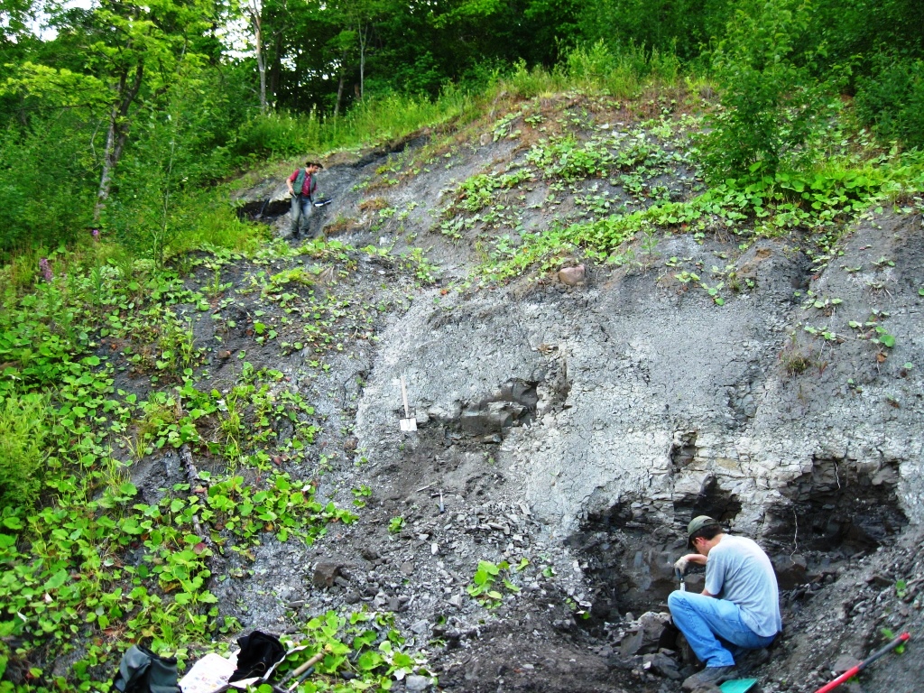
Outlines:
{"type": "MultiPolygon", "coordinates": [[[[629,244],[650,237],[654,229],[692,233],[700,240],[705,234],[734,234],[745,244],[758,237],[808,232],[823,262],[841,230],[861,213],[924,191],[924,161],[918,152],[880,152],[862,133],[851,137],[843,130],[839,144],[826,148],[823,166],[772,175],[760,174],[759,166],[745,177],[704,188],[697,182],[704,175],[697,165],[700,150],[689,135],[696,126],[689,116],[662,116],[643,121],[628,137],[625,132],[594,136],[582,145],[540,140],[527,153],[527,165],[517,169],[517,183],[505,198],[498,191],[507,188],[504,181],[511,180],[510,174],[469,178],[459,187],[461,202],[445,210],[450,218],[440,229],[453,237],[488,225],[502,231],[479,237],[482,248],[488,249],[484,276],[491,281],[533,267],[557,269],[580,258],[624,264],[635,253],[629,244]],[[634,140],[646,144],[639,148],[634,140]],[[665,174],[693,184],[686,191],[652,185],[665,174]],[[509,201],[529,191],[530,181],[540,177],[561,181],[551,188],[570,190],[578,210],[558,217],[548,229],[532,232],[522,228],[509,201]],[[588,194],[581,187],[588,178],[608,179],[611,186],[622,188],[626,201],[617,206],[614,198],[592,194],[599,187],[588,194]],[[472,197],[469,189],[477,189],[479,196],[472,197]],[[516,242],[504,231],[516,232],[516,242]]],[[[556,202],[553,196],[546,201],[556,202]]],[[[676,276],[688,281],[693,275],[676,276]]],[[[699,283],[699,277],[695,281],[699,283]]]]}

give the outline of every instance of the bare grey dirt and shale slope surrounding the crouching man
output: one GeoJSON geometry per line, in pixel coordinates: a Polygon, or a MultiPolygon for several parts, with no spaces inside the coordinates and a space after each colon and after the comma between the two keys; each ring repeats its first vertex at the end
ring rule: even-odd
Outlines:
{"type": "MultiPolygon", "coordinates": [[[[814,690],[840,655],[874,649],[883,626],[920,633],[920,215],[871,214],[821,260],[800,237],[659,232],[621,264],[562,257],[553,270],[584,260],[576,286],[554,272],[465,285],[492,238],[516,245],[529,229],[608,213],[606,202],[639,209],[697,188],[678,153],[687,116],[639,125],[645,114],[606,100],[528,105],[483,132],[422,136],[323,173],[334,203],[316,214],[318,233],[421,248],[427,263],[332,263],[329,292],[381,310],[341,331],[326,371],[308,349],[258,347],[246,332],[225,342],[301,383],[325,418],[321,467],[291,471],[317,475],[339,503],[371,495],[356,525],[311,547],[266,542],[249,579],[218,588],[223,603],[276,632],[329,608],[395,611],[444,690],[679,690],[674,673],[690,670],[670,651],[675,669],[652,656],[673,642],[638,617],[666,611],[682,528],[710,513],[779,570],[786,632],[757,669],[763,690],[814,690]],[[578,123],[579,141],[658,143],[671,158],[639,174],[642,194],[625,177],[563,185],[539,170],[478,210],[457,206],[471,176],[529,165],[539,124],[558,116],[578,123]],[[690,272],[723,281],[721,305],[690,272]],[[894,346],[857,338],[877,326],[894,346]],[[398,427],[402,376],[416,433],[398,427]],[[468,593],[481,561],[511,565],[493,580],[499,598],[468,593]]],[[[284,189],[270,181],[242,199],[285,237],[285,205],[263,204],[284,189]]],[[[261,269],[238,266],[232,291],[261,269]]],[[[249,300],[242,324],[279,312],[249,300]]],[[[917,689],[918,647],[854,690],[917,689]]]]}

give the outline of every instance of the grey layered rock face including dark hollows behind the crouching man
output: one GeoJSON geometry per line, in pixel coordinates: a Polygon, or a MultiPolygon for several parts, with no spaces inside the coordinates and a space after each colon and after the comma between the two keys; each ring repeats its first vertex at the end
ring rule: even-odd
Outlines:
{"type": "Polygon", "coordinates": [[[879,218],[825,267],[772,240],[664,241],[704,267],[734,258],[723,305],[663,270],[605,267],[416,302],[383,338],[360,441],[392,435],[405,373],[408,444],[446,439],[437,464],[496,458],[553,535],[627,576],[624,596],[671,588],[699,514],[785,553],[875,547],[924,518],[920,237],[879,218]]]}

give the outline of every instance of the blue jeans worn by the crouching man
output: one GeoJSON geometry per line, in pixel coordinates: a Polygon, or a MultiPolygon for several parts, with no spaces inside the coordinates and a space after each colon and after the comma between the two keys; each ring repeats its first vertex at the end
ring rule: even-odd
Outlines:
{"type": "Polygon", "coordinates": [[[741,620],[741,610],[728,600],[677,590],[667,598],[667,607],[674,625],[706,666],[734,666],[731,649],[759,650],[776,637],[759,636],[748,628],[741,620]]]}

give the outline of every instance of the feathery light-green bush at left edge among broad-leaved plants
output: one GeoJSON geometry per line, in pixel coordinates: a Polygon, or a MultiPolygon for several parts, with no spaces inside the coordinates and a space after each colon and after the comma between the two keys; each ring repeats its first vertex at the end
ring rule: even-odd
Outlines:
{"type": "Polygon", "coordinates": [[[46,405],[39,395],[0,402],[0,508],[28,507],[42,485],[46,405]]]}

